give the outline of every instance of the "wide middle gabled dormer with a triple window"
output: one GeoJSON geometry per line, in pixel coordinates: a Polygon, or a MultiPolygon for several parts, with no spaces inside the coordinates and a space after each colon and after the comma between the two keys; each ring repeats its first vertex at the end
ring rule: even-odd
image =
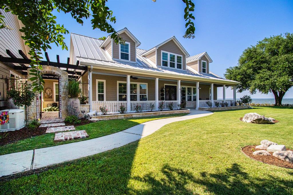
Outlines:
{"type": "Polygon", "coordinates": [[[175,36],[141,54],[156,64],[157,67],[168,67],[186,70],[188,52],[175,36]]]}

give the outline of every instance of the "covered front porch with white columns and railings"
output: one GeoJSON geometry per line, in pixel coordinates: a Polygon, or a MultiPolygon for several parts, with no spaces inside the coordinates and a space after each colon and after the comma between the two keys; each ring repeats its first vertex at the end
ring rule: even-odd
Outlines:
{"type": "Polygon", "coordinates": [[[217,88],[222,86],[102,69],[89,70],[81,79],[89,83],[90,111],[98,114],[100,107],[105,107],[108,114],[120,113],[120,106],[127,113],[178,110],[182,101],[186,101],[186,108],[198,109],[207,106],[207,101],[217,101],[217,88]]]}

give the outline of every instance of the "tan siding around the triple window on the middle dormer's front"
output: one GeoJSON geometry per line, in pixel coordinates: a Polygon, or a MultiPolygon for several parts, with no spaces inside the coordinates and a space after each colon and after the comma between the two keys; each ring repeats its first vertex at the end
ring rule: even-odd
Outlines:
{"type": "Polygon", "coordinates": [[[181,49],[179,49],[179,47],[176,45],[176,43],[171,40],[169,42],[167,42],[166,44],[160,46],[157,49],[157,66],[161,66],[161,51],[167,51],[167,52],[171,52],[173,54],[179,54],[182,55],[182,67],[183,70],[186,70],[186,58],[185,58],[185,54],[181,51],[181,49]]]}

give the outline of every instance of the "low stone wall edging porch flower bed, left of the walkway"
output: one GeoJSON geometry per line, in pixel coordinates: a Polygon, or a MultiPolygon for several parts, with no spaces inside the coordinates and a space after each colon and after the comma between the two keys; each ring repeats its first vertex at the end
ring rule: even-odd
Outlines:
{"type": "Polygon", "coordinates": [[[181,113],[189,114],[190,109],[173,110],[173,111],[155,111],[155,112],[141,112],[141,113],[96,115],[96,116],[92,116],[91,118],[100,119],[100,120],[113,120],[113,119],[122,119],[122,118],[160,116],[160,115],[181,114],[181,113]]]}

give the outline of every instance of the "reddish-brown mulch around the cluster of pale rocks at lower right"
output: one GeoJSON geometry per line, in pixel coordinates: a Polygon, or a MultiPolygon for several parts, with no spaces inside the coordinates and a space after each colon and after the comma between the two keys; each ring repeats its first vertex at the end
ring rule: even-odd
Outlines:
{"type": "MultiPolygon", "coordinates": [[[[256,145],[255,145],[256,146],[256,145]]],[[[256,161],[260,161],[260,162],[263,162],[263,163],[266,163],[266,164],[269,164],[269,165],[275,165],[275,166],[279,166],[279,167],[284,167],[284,168],[290,168],[290,169],[293,169],[293,164],[292,163],[289,163],[287,161],[283,161],[283,160],[280,160],[279,158],[273,156],[273,152],[270,152],[270,156],[262,156],[262,155],[253,155],[252,153],[254,151],[257,151],[257,150],[262,150],[262,149],[255,149],[255,146],[245,146],[242,148],[242,152],[256,160],[256,161]],[[252,150],[254,149],[254,151],[252,150]]],[[[286,148],[286,150],[291,150],[291,149],[288,149],[286,148]]],[[[293,151],[293,150],[291,150],[293,151]]]]}

